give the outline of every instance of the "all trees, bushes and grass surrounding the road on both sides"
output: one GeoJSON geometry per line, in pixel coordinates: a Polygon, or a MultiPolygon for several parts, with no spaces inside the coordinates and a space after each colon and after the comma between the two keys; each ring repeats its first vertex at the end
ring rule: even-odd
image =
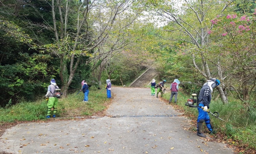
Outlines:
{"type": "Polygon", "coordinates": [[[100,114],[106,79],[128,86],[155,67],[157,82],[180,80],[177,105],[192,119],[197,110],[184,103],[218,78],[210,110],[227,123],[212,118],[215,129],[237,153],[256,153],[255,8],[255,0],[0,0],[0,122],[44,121],[52,78],[63,92],[58,117],[100,114]],[[82,80],[92,85],[87,104],[76,95],[82,80]]]}

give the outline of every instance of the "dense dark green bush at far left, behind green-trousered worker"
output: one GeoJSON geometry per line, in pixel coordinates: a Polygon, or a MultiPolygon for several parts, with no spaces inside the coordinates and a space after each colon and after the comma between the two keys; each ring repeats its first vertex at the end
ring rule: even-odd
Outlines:
{"type": "Polygon", "coordinates": [[[21,97],[26,96],[27,100],[32,100],[36,95],[44,93],[44,84],[42,77],[50,77],[53,72],[47,72],[47,64],[44,55],[28,53],[18,53],[16,62],[13,64],[0,65],[0,92],[1,104],[4,106],[10,98],[13,98],[13,104],[19,102],[21,97]]]}

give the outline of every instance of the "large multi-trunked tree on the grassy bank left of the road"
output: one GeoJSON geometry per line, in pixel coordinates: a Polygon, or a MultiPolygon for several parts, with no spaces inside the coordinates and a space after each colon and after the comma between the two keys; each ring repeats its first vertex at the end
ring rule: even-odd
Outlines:
{"type": "Polygon", "coordinates": [[[60,58],[60,78],[64,96],[81,58],[87,56],[90,62],[89,57],[93,57],[92,53],[95,49],[108,39],[116,17],[132,2],[132,0],[51,1],[53,24],[49,26],[54,33],[55,41],[53,44],[45,44],[43,48],[60,58]],[[104,18],[102,14],[106,14],[104,18]]]}

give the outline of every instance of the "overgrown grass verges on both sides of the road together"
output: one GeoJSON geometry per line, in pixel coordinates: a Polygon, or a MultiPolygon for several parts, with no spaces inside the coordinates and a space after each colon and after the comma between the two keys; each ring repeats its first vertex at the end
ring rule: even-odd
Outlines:
{"type": "MultiPolygon", "coordinates": [[[[168,87],[167,87],[168,88],[168,87]]],[[[170,90],[165,92],[164,99],[170,99],[170,90]]],[[[77,91],[78,92],[78,91],[77,91]]],[[[91,87],[89,92],[89,102],[82,102],[84,93],[80,92],[69,94],[67,98],[60,98],[58,103],[57,117],[69,118],[76,116],[92,116],[95,113],[106,109],[109,99],[106,96],[105,88],[98,90],[91,87]]],[[[178,93],[177,105],[184,109],[185,113],[198,115],[196,108],[185,106],[187,99],[191,98],[181,92],[178,93]]],[[[173,97],[174,99],[174,97],[173,97]]],[[[214,97],[213,97],[214,99],[214,97]]],[[[0,108],[0,123],[14,121],[33,121],[44,120],[46,116],[47,104],[45,99],[36,102],[21,102],[8,108],[0,108]]],[[[244,147],[256,150],[256,110],[247,110],[239,100],[229,100],[228,104],[223,104],[220,99],[212,100],[210,105],[211,112],[217,111],[220,118],[227,123],[214,118],[210,115],[212,124],[217,131],[226,134],[228,138],[232,138],[234,143],[239,142],[244,147]]],[[[206,128],[204,128],[205,131],[206,128]]]]}

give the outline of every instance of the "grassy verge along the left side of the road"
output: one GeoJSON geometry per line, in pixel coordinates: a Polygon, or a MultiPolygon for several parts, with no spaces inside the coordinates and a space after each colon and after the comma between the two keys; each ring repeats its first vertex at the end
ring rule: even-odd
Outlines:
{"type": "MultiPolygon", "coordinates": [[[[84,93],[77,92],[69,94],[67,98],[60,98],[57,107],[57,117],[76,117],[76,116],[92,116],[106,108],[107,99],[106,89],[98,90],[97,87],[90,87],[88,103],[84,100],[84,93]]],[[[9,106],[8,108],[0,108],[0,123],[15,121],[33,121],[45,119],[47,113],[47,104],[45,99],[39,99],[36,102],[21,102],[19,104],[9,106]]]]}

